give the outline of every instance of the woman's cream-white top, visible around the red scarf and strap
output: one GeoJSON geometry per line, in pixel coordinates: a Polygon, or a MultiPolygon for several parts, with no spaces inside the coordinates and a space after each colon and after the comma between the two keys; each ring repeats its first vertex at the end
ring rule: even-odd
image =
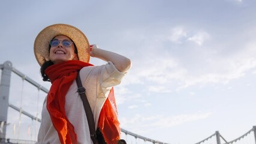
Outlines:
{"type": "MultiPolygon", "coordinates": [[[[100,110],[106,97],[108,97],[109,90],[112,86],[118,85],[121,82],[124,73],[118,71],[112,62],[108,62],[106,65],[84,67],[80,71],[80,76],[86,89],[86,95],[93,111],[97,128],[100,110]]],[[[78,143],[93,144],[90,137],[87,116],[85,115],[84,106],[77,89],[78,86],[76,85],[76,80],[74,80],[66,95],[66,115],[75,127],[78,143]]],[[[37,143],[60,143],[58,133],[53,127],[49,112],[47,111],[46,101],[43,104],[41,117],[37,143]]]]}

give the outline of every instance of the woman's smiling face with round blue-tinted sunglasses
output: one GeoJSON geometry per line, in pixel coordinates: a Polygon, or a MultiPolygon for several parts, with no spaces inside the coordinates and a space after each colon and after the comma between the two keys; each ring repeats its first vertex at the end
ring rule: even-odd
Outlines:
{"type": "Polygon", "coordinates": [[[74,44],[69,37],[65,35],[57,35],[53,38],[52,44],[50,45],[49,57],[53,64],[78,59],[78,56],[75,53],[74,44]]]}

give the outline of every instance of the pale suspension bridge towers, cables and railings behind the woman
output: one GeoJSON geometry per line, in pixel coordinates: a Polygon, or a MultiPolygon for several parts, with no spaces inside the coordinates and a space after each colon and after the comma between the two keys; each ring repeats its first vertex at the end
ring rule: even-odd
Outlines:
{"type": "MultiPolygon", "coordinates": [[[[29,118],[35,120],[36,122],[41,122],[41,119],[38,118],[38,116],[33,116],[30,113],[26,112],[25,110],[22,109],[22,107],[17,107],[14,106],[14,104],[10,104],[8,101],[8,96],[9,96],[9,90],[10,90],[10,78],[11,78],[11,72],[17,74],[17,76],[22,77],[22,80],[25,80],[26,82],[29,82],[31,85],[35,86],[38,91],[43,91],[47,94],[48,89],[44,88],[34,80],[30,79],[28,76],[25,74],[21,73],[19,70],[16,68],[12,67],[12,64],[10,61],[4,62],[4,64],[0,64],[0,69],[2,70],[2,74],[0,77],[1,83],[0,83],[0,125],[1,125],[1,131],[0,131],[0,144],[1,143],[7,143],[7,142],[14,142],[14,143],[34,143],[35,141],[33,140],[19,140],[19,139],[6,139],[5,134],[6,134],[6,125],[7,124],[7,109],[8,107],[11,107],[12,109],[16,110],[17,112],[23,115],[28,116],[29,118]]],[[[22,86],[23,87],[23,86],[22,86]]],[[[165,144],[163,142],[159,142],[157,140],[149,139],[144,136],[140,136],[138,134],[132,133],[131,131],[124,130],[121,128],[121,132],[125,135],[124,137],[133,137],[133,140],[135,140],[135,143],[139,142],[149,142],[149,143],[159,143],[159,144],[165,144]]],[[[252,127],[251,130],[249,130],[247,133],[243,134],[242,136],[238,137],[237,139],[231,140],[230,142],[227,142],[227,140],[224,139],[224,137],[221,136],[219,131],[216,131],[214,134],[211,136],[207,137],[204,140],[201,140],[200,142],[196,144],[203,144],[206,143],[207,140],[213,140],[216,139],[215,142],[217,144],[234,144],[239,140],[245,139],[245,137],[248,137],[249,134],[251,134],[251,137],[254,137],[253,142],[250,144],[256,144],[256,126],[252,127]],[[253,134],[252,134],[253,133],[253,134]]],[[[126,139],[127,143],[132,142],[133,140],[126,139]]],[[[167,143],[166,143],[167,144],[167,143]]]]}

